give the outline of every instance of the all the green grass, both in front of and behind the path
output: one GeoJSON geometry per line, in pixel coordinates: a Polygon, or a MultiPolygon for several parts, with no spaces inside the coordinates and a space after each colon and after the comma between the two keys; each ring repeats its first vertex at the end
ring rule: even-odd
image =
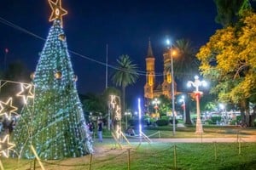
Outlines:
{"type": "MultiPolygon", "coordinates": [[[[170,127],[148,128],[144,130],[144,133],[150,135],[159,131],[162,135],[161,138],[193,138],[196,135],[195,127],[177,128],[177,133],[174,137],[170,127]]],[[[242,137],[256,135],[256,129],[237,129],[236,127],[204,127],[204,132],[203,135],[206,138],[235,137],[237,132],[242,137]]],[[[103,134],[104,138],[111,137],[106,130],[103,134]]],[[[1,161],[3,168],[6,170],[28,170],[33,167],[41,169],[38,161],[34,160],[1,157],[1,161]]],[[[132,143],[131,145],[124,144],[122,150],[117,144],[95,143],[95,153],[92,156],[43,161],[42,163],[47,170],[122,170],[128,169],[128,162],[130,162],[131,170],[253,170],[256,167],[256,143],[132,143]]]]}

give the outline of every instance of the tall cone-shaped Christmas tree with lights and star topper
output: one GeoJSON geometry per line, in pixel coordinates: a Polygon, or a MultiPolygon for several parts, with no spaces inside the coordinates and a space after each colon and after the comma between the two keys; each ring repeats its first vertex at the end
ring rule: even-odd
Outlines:
{"type": "Polygon", "coordinates": [[[26,102],[15,127],[16,155],[33,158],[33,146],[41,159],[84,156],[92,146],[62,29],[67,11],[61,0],[49,4],[54,22],[33,75],[34,99],[26,102]]]}

